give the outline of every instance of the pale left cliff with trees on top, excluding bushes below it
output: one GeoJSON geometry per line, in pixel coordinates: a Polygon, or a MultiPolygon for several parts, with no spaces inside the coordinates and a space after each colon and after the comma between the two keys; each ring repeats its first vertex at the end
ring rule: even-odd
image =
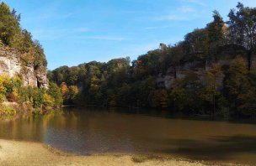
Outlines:
{"type": "Polygon", "coordinates": [[[20,75],[24,86],[48,86],[44,50],[32,35],[19,25],[20,14],[0,4],[0,72],[20,75]]]}

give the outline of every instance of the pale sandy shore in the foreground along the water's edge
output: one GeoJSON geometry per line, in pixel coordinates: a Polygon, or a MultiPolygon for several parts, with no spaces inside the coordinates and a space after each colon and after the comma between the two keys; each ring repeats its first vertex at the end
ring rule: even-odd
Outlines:
{"type": "Polygon", "coordinates": [[[22,142],[0,139],[0,166],[11,165],[72,165],[72,166],[98,166],[98,165],[237,165],[222,163],[206,163],[204,161],[193,161],[184,158],[157,158],[141,156],[136,154],[93,154],[88,156],[63,153],[56,148],[51,148],[44,143],[22,142]]]}

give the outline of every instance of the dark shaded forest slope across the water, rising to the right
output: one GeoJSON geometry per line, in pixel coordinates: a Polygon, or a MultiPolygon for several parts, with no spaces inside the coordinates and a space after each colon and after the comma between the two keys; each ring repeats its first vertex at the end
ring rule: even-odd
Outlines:
{"type": "MultiPolygon", "coordinates": [[[[214,11],[204,29],[186,34],[174,45],[160,44],[131,62],[127,58],[61,66],[50,80],[76,86],[79,92],[66,103],[100,106],[168,108],[172,112],[222,117],[256,115],[256,8],[237,4],[225,22],[214,11]],[[221,63],[224,55],[230,57],[221,63]],[[200,62],[204,75],[182,66],[200,62]],[[255,63],[255,62],[254,62],[255,63]],[[159,84],[161,75],[173,77],[171,86],[159,84]]],[[[62,93],[63,96],[63,93],[62,93]]]]}

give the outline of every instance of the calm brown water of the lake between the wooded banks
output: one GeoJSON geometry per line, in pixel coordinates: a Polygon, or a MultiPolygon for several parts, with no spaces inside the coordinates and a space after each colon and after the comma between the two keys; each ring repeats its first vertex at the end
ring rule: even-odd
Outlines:
{"type": "Polygon", "coordinates": [[[0,125],[0,138],[47,143],[69,153],[150,153],[256,163],[255,124],[69,108],[0,125]]]}

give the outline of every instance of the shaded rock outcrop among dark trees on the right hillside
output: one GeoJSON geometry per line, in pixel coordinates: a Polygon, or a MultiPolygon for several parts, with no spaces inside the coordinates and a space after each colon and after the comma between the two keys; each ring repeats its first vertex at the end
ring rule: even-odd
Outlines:
{"type": "MultiPolygon", "coordinates": [[[[205,60],[189,60],[184,62],[183,65],[179,66],[170,66],[166,72],[166,75],[159,74],[157,76],[157,85],[170,89],[174,85],[176,79],[184,79],[189,72],[193,72],[198,75],[199,80],[204,84],[205,83],[205,74],[207,70],[211,68],[212,63],[218,63],[221,65],[222,74],[218,82],[221,84],[224,80],[223,73],[226,72],[227,66],[230,65],[233,59],[237,56],[243,57],[248,65],[248,52],[244,49],[237,48],[233,45],[227,45],[222,47],[218,52],[217,59],[214,62],[207,62],[205,60]]],[[[256,68],[256,59],[252,57],[250,62],[253,68],[256,68]]],[[[221,84],[222,85],[222,84],[221,84]]]]}

